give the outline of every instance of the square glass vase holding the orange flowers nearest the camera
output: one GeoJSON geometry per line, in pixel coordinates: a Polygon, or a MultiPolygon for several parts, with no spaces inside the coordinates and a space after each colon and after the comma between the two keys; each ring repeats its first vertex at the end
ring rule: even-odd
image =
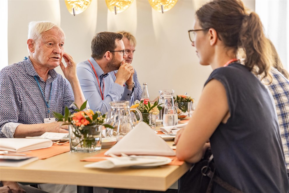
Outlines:
{"type": "Polygon", "coordinates": [[[102,125],[69,125],[71,152],[92,153],[101,150],[102,125]]]}

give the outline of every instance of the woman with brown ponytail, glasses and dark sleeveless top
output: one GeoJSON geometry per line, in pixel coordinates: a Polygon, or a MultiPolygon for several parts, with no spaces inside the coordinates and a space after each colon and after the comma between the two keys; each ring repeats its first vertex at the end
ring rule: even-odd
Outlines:
{"type": "MultiPolygon", "coordinates": [[[[200,64],[213,72],[176,136],[178,159],[196,163],[211,148],[219,177],[235,188],[288,192],[273,98],[256,76],[270,78],[272,64],[260,18],[240,0],[210,1],[196,12],[189,36],[200,64]]],[[[213,192],[227,191],[214,185],[213,192]]]]}

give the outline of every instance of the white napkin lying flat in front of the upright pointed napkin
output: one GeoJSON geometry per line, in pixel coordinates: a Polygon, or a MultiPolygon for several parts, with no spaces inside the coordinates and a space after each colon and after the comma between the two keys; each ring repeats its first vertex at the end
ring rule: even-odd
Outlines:
{"type": "Polygon", "coordinates": [[[155,159],[155,158],[141,158],[138,157],[138,159],[132,160],[127,157],[119,157],[119,158],[113,158],[113,157],[107,157],[107,160],[104,161],[98,161],[93,164],[87,164],[84,167],[87,168],[119,168],[119,167],[126,167],[126,166],[138,166],[138,165],[144,165],[144,164],[153,164],[153,163],[162,163],[166,161],[165,159],[155,159]]]}

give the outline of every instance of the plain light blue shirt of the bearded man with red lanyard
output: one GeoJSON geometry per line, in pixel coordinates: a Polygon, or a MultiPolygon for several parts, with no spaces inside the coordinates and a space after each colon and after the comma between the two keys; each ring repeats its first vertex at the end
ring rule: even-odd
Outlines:
{"type": "Polygon", "coordinates": [[[115,77],[113,71],[104,74],[101,67],[94,60],[94,58],[89,58],[84,62],[77,64],[77,76],[80,82],[81,89],[85,98],[89,102],[89,106],[93,111],[100,111],[105,114],[108,109],[110,109],[109,102],[118,100],[134,101],[134,90],[128,90],[123,86],[114,83],[113,77],[115,77]],[[98,76],[98,81],[101,86],[101,91],[99,89],[98,81],[91,67],[93,65],[96,74],[98,76]],[[104,84],[103,84],[104,83],[104,84]],[[101,92],[104,90],[103,100],[101,97],[101,92]]]}

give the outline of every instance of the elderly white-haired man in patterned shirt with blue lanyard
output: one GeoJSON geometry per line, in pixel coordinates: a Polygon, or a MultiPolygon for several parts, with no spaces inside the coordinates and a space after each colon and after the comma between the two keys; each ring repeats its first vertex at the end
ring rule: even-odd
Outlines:
{"type": "MultiPolygon", "coordinates": [[[[56,122],[52,112],[64,114],[68,107],[73,113],[77,109],[74,103],[80,107],[85,98],[76,64],[64,53],[64,39],[63,30],[51,22],[29,23],[29,57],[0,72],[0,138],[25,138],[45,132],[68,133],[67,125],[56,122]],[[59,65],[72,90],[54,70],[59,65]]],[[[10,189],[23,191],[16,182],[2,183],[10,189]]]]}

